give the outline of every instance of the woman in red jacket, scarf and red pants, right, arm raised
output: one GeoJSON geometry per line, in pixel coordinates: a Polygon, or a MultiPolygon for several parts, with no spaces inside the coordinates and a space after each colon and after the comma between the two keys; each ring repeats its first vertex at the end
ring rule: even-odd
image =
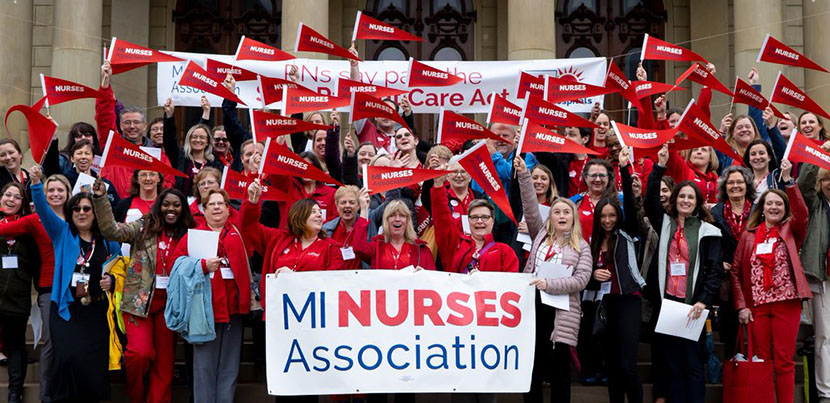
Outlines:
{"type": "Polygon", "coordinates": [[[738,321],[752,325],[758,356],[772,360],[779,402],[792,402],[801,301],[812,297],[798,252],[807,237],[808,211],[792,183],[792,164],[781,163],[786,193],[769,189],[749,216],[732,263],[738,321]]]}

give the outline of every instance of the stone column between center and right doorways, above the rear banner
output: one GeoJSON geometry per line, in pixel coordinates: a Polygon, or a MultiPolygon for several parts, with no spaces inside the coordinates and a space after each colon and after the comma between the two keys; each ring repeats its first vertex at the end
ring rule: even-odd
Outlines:
{"type": "Polygon", "coordinates": [[[555,0],[514,0],[507,11],[507,59],[556,58],[555,0]]]}

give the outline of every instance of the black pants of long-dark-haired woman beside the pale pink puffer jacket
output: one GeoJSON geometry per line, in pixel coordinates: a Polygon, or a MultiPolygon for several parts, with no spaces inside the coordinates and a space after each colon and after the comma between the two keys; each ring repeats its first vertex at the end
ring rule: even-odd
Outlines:
{"type": "Polygon", "coordinates": [[[643,385],[637,372],[640,344],[640,315],[643,301],[636,295],[611,295],[603,298],[608,324],[603,335],[603,353],[608,372],[608,398],[611,403],[642,403],[643,385]]]}

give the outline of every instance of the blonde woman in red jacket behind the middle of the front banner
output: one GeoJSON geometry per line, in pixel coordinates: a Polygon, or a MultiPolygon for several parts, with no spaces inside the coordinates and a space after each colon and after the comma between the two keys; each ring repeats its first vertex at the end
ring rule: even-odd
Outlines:
{"type": "MultiPolygon", "coordinates": [[[[368,219],[369,211],[361,211],[360,216],[368,219]]],[[[432,252],[426,242],[415,236],[412,211],[401,200],[392,200],[383,210],[382,235],[366,241],[365,229],[358,229],[354,249],[372,269],[400,270],[412,266],[415,270],[435,270],[432,252]]]]}

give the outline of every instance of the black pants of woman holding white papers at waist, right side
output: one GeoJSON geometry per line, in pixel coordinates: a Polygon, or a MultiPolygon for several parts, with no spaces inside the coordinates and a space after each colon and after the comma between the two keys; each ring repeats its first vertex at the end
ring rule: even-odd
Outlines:
{"type": "Polygon", "coordinates": [[[666,358],[668,400],[672,403],[703,403],[706,384],[702,344],[663,334],[656,338],[666,358]]]}

